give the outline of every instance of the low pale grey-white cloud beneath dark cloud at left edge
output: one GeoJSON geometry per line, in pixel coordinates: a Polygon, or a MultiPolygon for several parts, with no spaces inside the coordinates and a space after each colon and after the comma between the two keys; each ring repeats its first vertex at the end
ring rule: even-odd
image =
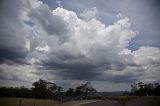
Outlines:
{"type": "Polygon", "coordinates": [[[0,77],[7,80],[20,80],[20,81],[35,81],[40,78],[40,76],[33,74],[36,72],[34,66],[31,65],[21,65],[21,64],[1,64],[0,77]]]}

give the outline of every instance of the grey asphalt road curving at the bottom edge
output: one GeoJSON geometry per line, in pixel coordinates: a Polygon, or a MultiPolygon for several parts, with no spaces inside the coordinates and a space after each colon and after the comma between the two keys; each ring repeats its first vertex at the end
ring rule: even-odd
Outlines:
{"type": "Polygon", "coordinates": [[[105,101],[97,101],[94,103],[83,104],[79,106],[124,106],[124,105],[117,101],[105,100],[105,101]]]}

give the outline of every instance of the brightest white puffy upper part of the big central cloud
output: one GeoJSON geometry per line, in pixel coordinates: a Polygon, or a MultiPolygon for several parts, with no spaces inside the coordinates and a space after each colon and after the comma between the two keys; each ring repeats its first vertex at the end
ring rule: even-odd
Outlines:
{"type": "Polygon", "coordinates": [[[53,52],[58,50],[60,54],[63,49],[67,54],[76,53],[77,56],[84,56],[84,59],[92,60],[97,64],[102,61],[113,62],[117,61],[118,53],[123,51],[135,36],[128,18],[105,26],[97,19],[86,22],[79,19],[74,12],[63,8],[57,8],[53,13],[64,18],[70,29],[69,41],[62,45],[57,44],[56,48],[52,48],[53,52]]]}

